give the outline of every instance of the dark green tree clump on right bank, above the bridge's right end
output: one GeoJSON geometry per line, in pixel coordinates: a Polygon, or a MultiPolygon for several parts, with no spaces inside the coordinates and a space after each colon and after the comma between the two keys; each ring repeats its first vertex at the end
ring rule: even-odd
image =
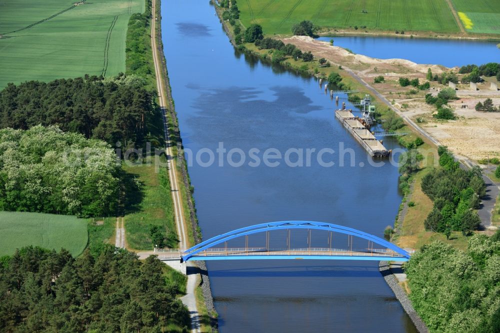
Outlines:
{"type": "Polygon", "coordinates": [[[473,209],[479,208],[480,198],[486,194],[481,170],[460,168],[445,146],[439,146],[439,165],[422,178],[422,191],[434,202],[425,219],[425,229],[468,234],[479,226],[480,220],[473,209]]]}

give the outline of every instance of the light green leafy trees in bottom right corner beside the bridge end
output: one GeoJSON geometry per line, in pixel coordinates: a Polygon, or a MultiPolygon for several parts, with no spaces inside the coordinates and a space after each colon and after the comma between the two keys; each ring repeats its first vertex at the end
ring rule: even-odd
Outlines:
{"type": "Polygon", "coordinates": [[[429,331],[500,331],[499,239],[499,232],[474,235],[466,251],[436,241],[411,256],[409,298],[429,331]]]}

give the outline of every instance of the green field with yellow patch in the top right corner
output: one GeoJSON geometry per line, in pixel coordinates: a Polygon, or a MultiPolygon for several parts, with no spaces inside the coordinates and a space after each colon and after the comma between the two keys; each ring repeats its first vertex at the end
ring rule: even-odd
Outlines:
{"type": "MultiPolygon", "coordinates": [[[[466,31],[478,33],[500,33],[500,1],[498,0],[452,0],[457,12],[464,13],[471,21],[466,31]]],[[[463,21],[463,20],[462,20],[463,21]]]]}

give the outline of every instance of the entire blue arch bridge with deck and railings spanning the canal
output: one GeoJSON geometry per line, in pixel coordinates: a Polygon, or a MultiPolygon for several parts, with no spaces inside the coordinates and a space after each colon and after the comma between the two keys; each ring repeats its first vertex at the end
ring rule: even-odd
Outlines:
{"type": "MultiPolygon", "coordinates": [[[[359,243],[359,241],[356,241],[359,243]]],[[[207,239],[185,250],[159,249],[155,253],[160,259],[173,259],[181,262],[189,260],[245,260],[245,259],[337,259],[337,260],[394,260],[407,261],[411,250],[402,249],[391,242],[372,234],[349,228],[342,225],[314,222],[314,221],[280,221],[255,224],[232,230],[207,239]],[[307,229],[307,247],[294,248],[291,246],[290,233],[294,229],[307,229]],[[270,231],[285,230],[286,247],[269,247],[270,231]],[[327,231],[327,247],[311,246],[311,230],[327,231]],[[248,236],[256,233],[265,233],[265,245],[249,247],[248,236]],[[340,233],[347,235],[347,241],[340,242],[343,248],[334,246],[340,233]],[[244,237],[244,247],[227,247],[227,241],[244,237]],[[353,248],[353,237],[360,238],[366,246],[353,248]],[[346,244],[346,246],[345,246],[346,244]]]]}

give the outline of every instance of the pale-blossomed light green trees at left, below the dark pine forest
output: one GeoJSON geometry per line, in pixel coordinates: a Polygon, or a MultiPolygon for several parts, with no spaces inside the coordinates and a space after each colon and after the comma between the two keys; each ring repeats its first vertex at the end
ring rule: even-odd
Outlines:
{"type": "Polygon", "coordinates": [[[0,210],[113,214],[118,171],[101,140],[56,126],[0,129],[0,210]]]}

